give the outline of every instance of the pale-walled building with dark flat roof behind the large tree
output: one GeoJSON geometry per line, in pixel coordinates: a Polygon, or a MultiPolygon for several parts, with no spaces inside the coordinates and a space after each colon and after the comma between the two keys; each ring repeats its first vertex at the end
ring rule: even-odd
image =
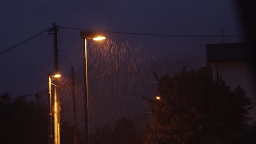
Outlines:
{"type": "Polygon", "coordinates": [[[241,86],[252,98],[252,121],[256,121],[256,91],[252,69],[252,52],[246,43],[207,44],[206,60],[214,79],[222,77],[231,89],[241,86]]]}

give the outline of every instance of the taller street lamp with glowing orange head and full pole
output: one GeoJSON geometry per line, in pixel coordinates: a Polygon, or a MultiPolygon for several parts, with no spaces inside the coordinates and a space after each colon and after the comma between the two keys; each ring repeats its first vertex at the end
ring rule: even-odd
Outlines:
{"type": "Polygon", "coordinates": [[[83,39],[83,54],[84,54],[84,119],[85,119],[85,142],[89,144],[89,106],[88,106],[88,73],[87,73],[87,49],[86,39],[103,40],[106,36],[96,31],[82,31],[80,37],[83,39]]]}

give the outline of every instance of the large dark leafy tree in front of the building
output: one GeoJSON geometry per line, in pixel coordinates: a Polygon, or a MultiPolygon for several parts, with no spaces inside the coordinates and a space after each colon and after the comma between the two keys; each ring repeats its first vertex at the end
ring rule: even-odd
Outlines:
{"type": "Polygon", "coordinates": [[[205,68],[154,76],[161,99],[147,98],[153,121],[146,143],[230,143],[241,138],[237,135],[248,126],[252,109],[241,87],[231,91],[205,68]]]}

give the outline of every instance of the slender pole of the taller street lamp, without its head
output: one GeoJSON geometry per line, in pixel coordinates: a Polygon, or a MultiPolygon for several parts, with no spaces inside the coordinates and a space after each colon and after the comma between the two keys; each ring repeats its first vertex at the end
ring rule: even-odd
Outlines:
{"type": "Polygon", "coordinates": [[[83,39],[84,45],[84,125],[85,125],[85,142],[89,144],[89,99],[88,99],[88,73],[87,73],[87,50],[86,50],[86,39],[83,39]]]}

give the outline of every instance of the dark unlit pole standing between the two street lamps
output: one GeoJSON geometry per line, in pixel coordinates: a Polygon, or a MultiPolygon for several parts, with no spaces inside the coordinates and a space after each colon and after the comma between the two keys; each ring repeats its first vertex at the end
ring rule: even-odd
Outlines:
{"type": "Polygon", "coordinates": [[[74,83],[74,67],[71,68],[72,75],[72,100],[73,100],[73,121],[74,121],[74,144],[77,144],[77,111],[75,109],[75,83],[74,83]]]}

